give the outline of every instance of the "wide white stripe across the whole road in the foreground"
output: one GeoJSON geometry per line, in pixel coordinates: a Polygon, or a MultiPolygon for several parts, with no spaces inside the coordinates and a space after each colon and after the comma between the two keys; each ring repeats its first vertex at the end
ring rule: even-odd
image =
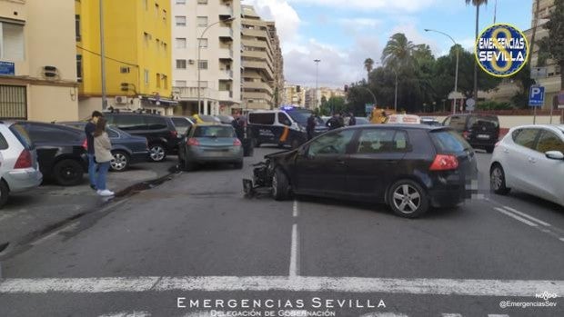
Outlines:
{"type": "Polygon", "coordinates": [[[564,293],[564,281],[384,279],[306,276],[145,276],[0,280],[0,294],[106,292],[351,292],[531,297],[564,293]]]}

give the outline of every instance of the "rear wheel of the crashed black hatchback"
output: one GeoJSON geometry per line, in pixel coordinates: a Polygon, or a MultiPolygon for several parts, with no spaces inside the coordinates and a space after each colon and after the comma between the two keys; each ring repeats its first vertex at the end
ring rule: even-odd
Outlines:
{"type": "Polygon", "coordinates": [[[401,180],[390,187],[388,204],[401,217],[417,218],[428,211],[428,194],[418,183],[401,180]]]}

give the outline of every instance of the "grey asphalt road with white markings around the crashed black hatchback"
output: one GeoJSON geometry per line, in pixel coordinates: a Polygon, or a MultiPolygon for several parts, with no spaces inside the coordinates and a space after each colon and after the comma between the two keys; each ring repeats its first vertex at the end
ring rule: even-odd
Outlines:
{"type": "Polygon", "coordinates": [[[482,196],[407,220],[384,205],[244,198],[248,164],[274,151],[45,233],[1,263],[0,316],[564,315],[564,210],[490,195],[489,154],[482,196]],[[543,292],[556,307],[502,307],[546,304],[543,292]]]}

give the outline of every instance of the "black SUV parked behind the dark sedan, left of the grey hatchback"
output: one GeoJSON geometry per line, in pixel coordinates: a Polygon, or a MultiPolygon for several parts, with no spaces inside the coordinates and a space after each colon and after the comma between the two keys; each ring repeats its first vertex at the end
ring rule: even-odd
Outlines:
{"type": "Polygon", "coordinates": [[[167,154],[178,153],[178,132],[172,118],[158,114],[106,113],[107,124],[128,134],[145,136],[149,144],[149,158],[162,162],[167,154]]]}

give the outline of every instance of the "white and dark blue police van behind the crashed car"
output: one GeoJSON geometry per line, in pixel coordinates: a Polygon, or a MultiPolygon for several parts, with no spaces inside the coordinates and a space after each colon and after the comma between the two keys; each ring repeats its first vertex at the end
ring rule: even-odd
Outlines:
{"type": "MultiPolygon", "coordinates": [[[[293,149],[307,142],[307,118],[311,111],[297,107],[282,107],[279,110],[254,111],[247,114],[247,127],[253,144],[290,145],[293,149]]],[[[316,118],[316,135],[327,131],[323,122],[316,118]]]]}

